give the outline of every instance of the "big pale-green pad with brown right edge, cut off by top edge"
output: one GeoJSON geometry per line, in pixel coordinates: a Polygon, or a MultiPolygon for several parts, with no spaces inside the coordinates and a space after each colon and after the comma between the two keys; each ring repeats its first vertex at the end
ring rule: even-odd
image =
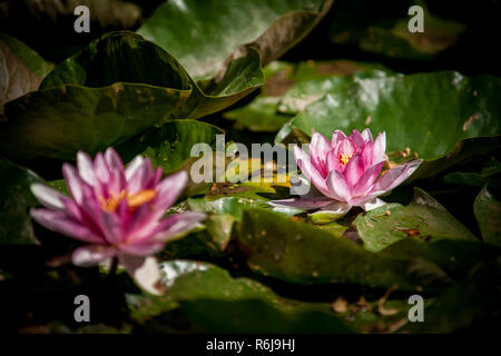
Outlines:
{"type": "Polygon", "coordinates": [[[232,53],[246,47],[259,49],[264,65],[276,59],[331,4],[324,0],[167,1],[137,32],[173,53],[195,80],[207,80],[232,53]]]}

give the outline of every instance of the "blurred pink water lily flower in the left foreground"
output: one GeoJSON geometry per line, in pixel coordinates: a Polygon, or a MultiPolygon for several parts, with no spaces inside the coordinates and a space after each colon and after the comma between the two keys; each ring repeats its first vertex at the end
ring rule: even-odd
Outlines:
{"type": "Polygon", "coordinates": [[[80,151],[77,168],[65,164],[62,174],[71,197],[33,184],[31,191],[45,208],[30,212],[46,228],[86,243],[72,253],[78,266],[118,257],[132,273],[146,257],[205,218],[202,212],[164,218],[188,176],[180,171],[161,180],[161,168],[154,170],[149,158],[138,156],[124,169],[112,148],[99,152],[94,161],[80,151]]]}

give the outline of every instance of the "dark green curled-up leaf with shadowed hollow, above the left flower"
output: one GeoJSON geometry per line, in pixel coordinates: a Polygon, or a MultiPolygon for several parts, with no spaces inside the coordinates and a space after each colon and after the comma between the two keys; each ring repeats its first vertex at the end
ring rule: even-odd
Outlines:
{"type": "Polygon", "coordinates": [[[0,152],[10,159],[95,154],[168,117],[190,92],[175,59],[129,32],[91,43],[58,66],[41,86],[6,105],[0,152]]]}

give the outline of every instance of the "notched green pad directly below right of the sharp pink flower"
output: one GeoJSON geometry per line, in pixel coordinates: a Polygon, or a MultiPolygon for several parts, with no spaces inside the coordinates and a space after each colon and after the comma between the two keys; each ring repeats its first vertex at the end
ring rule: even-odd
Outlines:
{"type": "Polygon", "coordinates": [[[364,247],[380,251],[402,239],[433,243],[442,239],[478,241],[439,201],[420,188],[407,206],[387,204],[360,214],[353,221],[364,247]]]}

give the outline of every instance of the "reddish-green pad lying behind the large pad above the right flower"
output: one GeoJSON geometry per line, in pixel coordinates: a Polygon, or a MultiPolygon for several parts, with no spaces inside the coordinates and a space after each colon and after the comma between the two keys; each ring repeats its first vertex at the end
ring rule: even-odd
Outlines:
{"type": "Polygon", "coordinates": [[[224,113],[226,119],[236,120],[236,128],[277,131],[308,103],[352,85],[354,78],[384,77],[389,72],[382,66],[348,60],[275,61],[265,70],[261,93],[248,105],[224,113]]]}

